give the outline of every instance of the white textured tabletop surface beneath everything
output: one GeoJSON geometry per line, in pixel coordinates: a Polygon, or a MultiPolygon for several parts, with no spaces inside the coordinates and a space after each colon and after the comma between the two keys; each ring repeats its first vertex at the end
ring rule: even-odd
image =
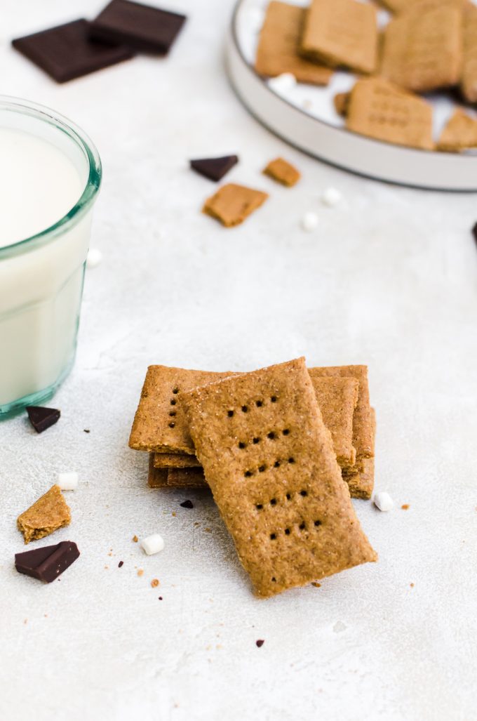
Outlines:
{"type": "Polygon", "coordinates": [[[7,41],[101,2],[17,0],[2,17],[2,92],[70,116],[102,154],[104,260],[86,277],[61,420],[43,435],[24,417],[0,425],[0,718],[476,719],[475,196],[380,185],[287,148],[228,87],[229,2],[168,5],[190,13],[169,60],[64,87],[7,41]],[[241,162],[228,178],[271,194],[234,230],[200,214],[214,185],[187,169],[229,152],[241,162]],[[277,155],[303,172],[292,190],[259,174],[277,155]],[[339,208],[320,204],[329,185],[339,208]],[[305,234],[313,203],[320,226],[305,234]],[[148,490],[128,432],[148,363],[246,369],[300,353],[369,364],[377,487],[396,508],[355,503],[378,564],[257,601],[210,497],[148,490]],[[81,557],[43,586],[14,571],[15,518],[66,468],[81,478],[73,521],[51,541],[81,557]],[[166,547],[146,557],[131,538],[156,530],[166,547]]]}

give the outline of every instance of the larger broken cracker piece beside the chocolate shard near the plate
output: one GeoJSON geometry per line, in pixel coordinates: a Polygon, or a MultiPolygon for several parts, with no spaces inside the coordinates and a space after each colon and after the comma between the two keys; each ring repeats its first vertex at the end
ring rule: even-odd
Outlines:
{"type": "Polygon", "coordinates": [[[243,223],[267,198],[268,194],[262,190],[228,183],[205,201],[202,212],[226,228],[232,228],[243,223]]]}

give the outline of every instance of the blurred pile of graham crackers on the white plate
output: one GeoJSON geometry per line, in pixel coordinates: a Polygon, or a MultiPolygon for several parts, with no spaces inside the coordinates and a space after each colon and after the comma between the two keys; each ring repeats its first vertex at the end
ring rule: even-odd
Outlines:
{"type": "Polygon", "coordinates": [[[308,7],[272,0],[255,68],[326,85],[336,68],[357,74],[334,98],[346,127],[381,141],[458,152],[477,147],[477,120],[458,107],[434,141],[432,105],[422,93],[452,89],[477,102],[477,6],[471,0],[380,0],[391,13],[379,27],[374,4],[312,0],[308,7]]]}

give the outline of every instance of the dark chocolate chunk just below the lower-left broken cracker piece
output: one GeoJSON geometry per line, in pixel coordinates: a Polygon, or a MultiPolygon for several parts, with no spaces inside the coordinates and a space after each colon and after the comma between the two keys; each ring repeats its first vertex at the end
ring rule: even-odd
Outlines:
{"type": "Polygon", "coordinates": [[[32,578],[51,583],[79,557],[73,541],[62,541],[55,546],[44,546],[33,551],[15,554],[15,568],[32,578]]]}

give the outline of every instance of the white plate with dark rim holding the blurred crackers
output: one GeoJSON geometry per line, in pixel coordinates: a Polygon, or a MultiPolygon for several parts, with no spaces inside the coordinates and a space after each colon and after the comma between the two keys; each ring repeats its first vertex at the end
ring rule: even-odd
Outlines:
{"type": "MultiPolygon", "coordinates": [[[[414,150],[347,131],[334,111],[333,97],[352,87],[352,74],[336,72],[326,88],[296,84],[286,92],[277,92],[270,87],[254,71],[267,4],[268,0],[239,0],[227,42],[228,74],[233,87],[261,123],[300,150],[355,173],[434,190],[477,191],[477,154],[472,151],[457,154],[414,150]]],[[[385,22],[384,13],[380,19],[385,22]]],[[[434,106],[437,135],[454,103],[444,95],[429,99],[434,106]]]]}

